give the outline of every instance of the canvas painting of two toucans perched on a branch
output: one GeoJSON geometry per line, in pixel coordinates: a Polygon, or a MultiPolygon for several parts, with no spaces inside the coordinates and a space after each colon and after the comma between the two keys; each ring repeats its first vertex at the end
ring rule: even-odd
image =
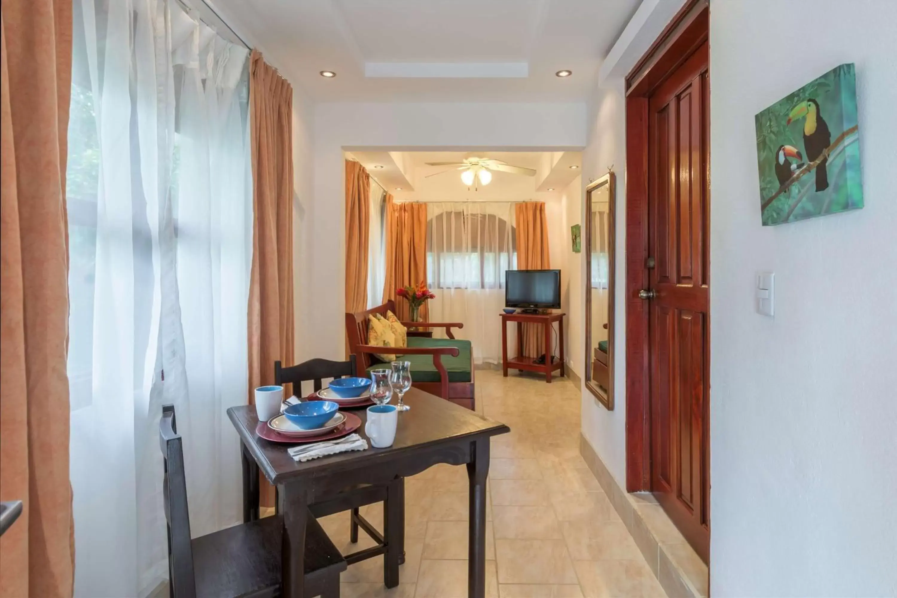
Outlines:
{"type": "Polygon", "coordinates": [[[832,69],[754,120],[763,226],[863,207],[854,65],[832,69]]]}

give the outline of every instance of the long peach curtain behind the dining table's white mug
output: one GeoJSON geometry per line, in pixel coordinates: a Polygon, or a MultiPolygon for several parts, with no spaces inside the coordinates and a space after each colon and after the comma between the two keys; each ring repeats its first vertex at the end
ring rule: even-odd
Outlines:
{"type": "MultiPolygon", "coordinates": [[[[292,86],[261,53],[249,57],[249,136],[255,212],[249,278],[249,403],[274,384],[274,361],[293,362],[292,86]]],[[[289,389],[285,390],[289,393],[289,389]]],[[[261,501],[274,505],[262,479],[261,501]]]]}

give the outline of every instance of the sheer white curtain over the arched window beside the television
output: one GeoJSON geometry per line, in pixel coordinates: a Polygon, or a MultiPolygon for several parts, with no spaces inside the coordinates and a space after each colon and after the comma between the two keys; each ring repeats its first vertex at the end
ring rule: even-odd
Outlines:
{"type": "Polygon", "coordinates": [[[505,271],[517,267],[514,205],[427,204],[427,283],[436,294],[430,320],[463,322],[455,334],[472,342],[476,363],[501,362],[505,271]]]}

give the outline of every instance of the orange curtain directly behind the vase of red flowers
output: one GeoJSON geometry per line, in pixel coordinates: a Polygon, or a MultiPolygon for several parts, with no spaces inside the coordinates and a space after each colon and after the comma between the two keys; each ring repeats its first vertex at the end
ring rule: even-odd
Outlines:
{"type": "MultiPolygon", "coordinates": [[[[383,285],[383,302],[396,301],[396,316],[407,321],[408,302],[396,297],[396,289],[427,280],[427,206],[397,204],[387,195],[387,278],[383,285]]],[[[427,304],[420,316],[429,321],[427,304]]]]}

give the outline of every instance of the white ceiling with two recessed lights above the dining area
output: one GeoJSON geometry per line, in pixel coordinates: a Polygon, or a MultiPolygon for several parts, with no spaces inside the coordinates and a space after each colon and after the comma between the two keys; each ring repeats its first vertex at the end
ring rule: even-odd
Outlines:
{"type": "Polygon", "coordinates": [[[579,101],[640,0],[209,0],[317,101],[579,101]],[[570,69],[562,79],[554,73],[570,69]],[[325,79],[318,72],[334,71],[325,79]]]}

